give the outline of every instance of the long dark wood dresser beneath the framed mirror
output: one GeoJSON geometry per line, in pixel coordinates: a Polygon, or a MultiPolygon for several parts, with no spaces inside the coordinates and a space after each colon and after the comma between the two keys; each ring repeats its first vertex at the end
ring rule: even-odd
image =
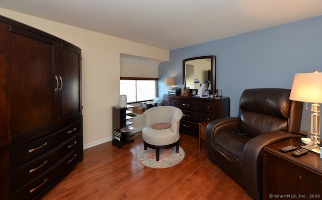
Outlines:
{"type": "Polygon", "coordinates": [[[183,112],[180,132],[199,137],[200,122],[230,116],[230,98],[198,98],[188,96],[163,95],[164,106],[175,106],[183,112]]]}

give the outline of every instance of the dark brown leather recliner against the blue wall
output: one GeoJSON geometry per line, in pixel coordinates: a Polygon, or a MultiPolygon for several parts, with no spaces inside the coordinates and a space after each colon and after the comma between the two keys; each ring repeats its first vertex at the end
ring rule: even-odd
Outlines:
{"type": "Polygon", "coordinates": [[[268,144],[299,137],[303,103],[289,99],[290,89],[246,89],[238,117],[209,123],[209,159],[219,165],[255,199],[262,199],[261,150],[268,144]]]}

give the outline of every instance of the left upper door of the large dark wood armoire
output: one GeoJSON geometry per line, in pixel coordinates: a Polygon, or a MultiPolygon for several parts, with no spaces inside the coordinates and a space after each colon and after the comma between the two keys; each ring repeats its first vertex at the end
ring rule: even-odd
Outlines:
{"type": "MultiPolygon", "coordinates": [[[[8,30],[9,31],[9,30],[8,30]]],[[[54,91],[57,42],[10,26],[11,142],[31,140],[58,123],[54,91]]]]}

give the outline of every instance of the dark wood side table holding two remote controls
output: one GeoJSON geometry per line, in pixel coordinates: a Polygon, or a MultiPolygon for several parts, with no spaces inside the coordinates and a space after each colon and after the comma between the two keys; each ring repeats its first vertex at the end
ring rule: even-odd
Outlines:
{"type": "Polygon", "coordinates": [[[322,159],[314,152],[300,157],[279,149],[304,146],[300,138],[270,144],[263,149],[263,199],[321,199],[322,159]]]}

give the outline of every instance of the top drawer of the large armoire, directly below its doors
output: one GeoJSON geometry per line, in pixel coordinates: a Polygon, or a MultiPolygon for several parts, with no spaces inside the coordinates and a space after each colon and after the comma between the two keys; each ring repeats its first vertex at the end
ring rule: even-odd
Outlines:
{"type": "Polygon", "coordinates": [[[70,126],[58,132],[11,149],[10,169],[17,168],[23,163],[59,145],[67,138],[72,137],[77,133],[80,133],[81,130],[82,120],[78,120],[77,122],[71,124],[70,126]]]}

